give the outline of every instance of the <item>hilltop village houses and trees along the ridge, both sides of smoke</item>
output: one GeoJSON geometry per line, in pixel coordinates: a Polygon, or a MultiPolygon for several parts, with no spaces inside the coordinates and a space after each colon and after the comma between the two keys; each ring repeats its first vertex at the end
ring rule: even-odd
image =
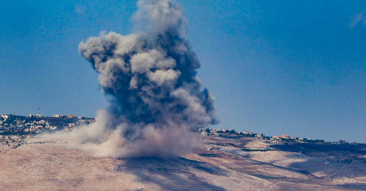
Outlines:
{"type": "MultiPolygon", "coordinates": [[[[54,114],[53,116],[44,117],[42,114],[40,114],[39,109],[37,114],[30,113],[29,116],[3,114],[0,116],[0,143],[16,143],[14,147],[17,147],[19,146],[17,144],[24,143],[24,139],[31,135],[48,131],[71,131],[79,125],[94,123],[96,120],[96,117],[78,117],[72,114],[61,115],[58,113],[54,114]]],[[[264,134],[256,134],[250,131],[240,132],[227,129],[216,130],[202,127],[198,128],[198,132],[200,132],[202,135],[217,135],[223,138],[257,138],[263,139],[267,143],[271,144],[294,144],[296,142],[326,143],[324,140],[291,137],[290,135],[265,136],[264,134]]],[[[347,143],[343,140],[330,143],[348,145],[359,144],[356,142],[347,143]]],[[[10,146],[10,144],[8,146],[10,146]]]]}

